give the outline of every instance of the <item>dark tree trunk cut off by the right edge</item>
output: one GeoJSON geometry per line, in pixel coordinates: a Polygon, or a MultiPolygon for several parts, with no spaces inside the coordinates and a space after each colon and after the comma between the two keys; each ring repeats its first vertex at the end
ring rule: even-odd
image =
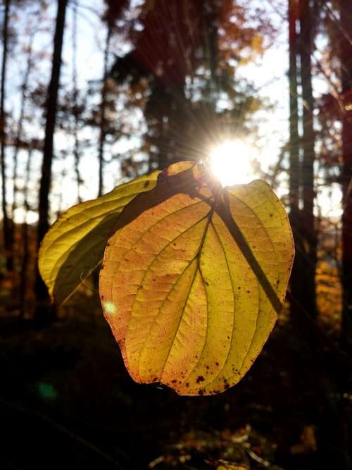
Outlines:
{"type": "MultiPolygon", "coordinates": [[[[340,0],[341,27],[351,31],[351,1],[340,0]]],[[[341,345],[352,354],[352,45],[341,37],[341,85],[344,103],[342,118],[343,165],[341,183],[344,213],[342,216],[342,283],[344,306],[342,312],[341,345]]]]}

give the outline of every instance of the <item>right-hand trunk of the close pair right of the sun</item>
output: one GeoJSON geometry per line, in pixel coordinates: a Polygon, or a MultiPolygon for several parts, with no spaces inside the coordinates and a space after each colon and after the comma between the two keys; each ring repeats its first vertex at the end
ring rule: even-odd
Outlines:
{"type": "Polygon", "coordinates": [[[301,86],[303,99],[303,161],[302,161],[302,235],[304,239],[306,273],[303,283],[303,307],[311,316],[316,315],[315,304],[315,266],[317,263],[317,234],[314,217],[314,161],[315,161],[315,132],[313,123],[313,89],[312,66],[310,56],[312,54],[313,38],[311,37],[312,18],[310,15],[309,0],[300,1],[300,41],[301,56],[301,86]]]}

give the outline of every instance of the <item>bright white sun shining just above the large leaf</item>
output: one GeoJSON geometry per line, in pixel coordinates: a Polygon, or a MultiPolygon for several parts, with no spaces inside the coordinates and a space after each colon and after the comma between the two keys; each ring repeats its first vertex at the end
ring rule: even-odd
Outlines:
{"type": "Polygon", "coordinates": [[[222,186],[243,185],[254,178],[256,149],[244,140],[226,140],[210,151],[210,166],[222,186]]]}

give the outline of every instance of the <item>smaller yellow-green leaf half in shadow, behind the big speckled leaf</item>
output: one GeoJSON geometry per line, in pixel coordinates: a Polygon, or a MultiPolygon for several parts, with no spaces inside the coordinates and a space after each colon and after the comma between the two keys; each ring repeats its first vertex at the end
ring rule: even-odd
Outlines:
{"type": "Polygon", "coordinates": [[[61,304],[99,266],[122,209],[156,185],[158,171],[71,207],[52,225],[39,249],[39,272],[51,298],[61,304]]]}

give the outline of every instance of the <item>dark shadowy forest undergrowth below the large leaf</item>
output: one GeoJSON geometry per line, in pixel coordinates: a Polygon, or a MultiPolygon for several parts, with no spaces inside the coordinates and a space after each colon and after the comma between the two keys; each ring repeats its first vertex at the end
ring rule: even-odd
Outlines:
{"type": "Polygon", "coordinates": [[[1,469],[348,468],[350,371],[308,324],[277,326],[227,392],[180,397],[132,381],[92,297],[59,313],[0,316],[1,469]]]}

